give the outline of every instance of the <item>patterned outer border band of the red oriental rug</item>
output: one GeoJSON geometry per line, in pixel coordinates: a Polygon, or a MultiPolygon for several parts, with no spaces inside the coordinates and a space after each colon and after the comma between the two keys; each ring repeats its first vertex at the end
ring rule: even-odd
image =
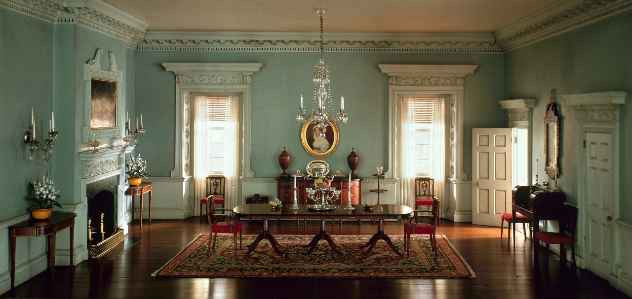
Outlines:
{"type": "MultiPolygon", "coordinates": [[[[256,237],[257,235],[243,235],[243,237],[256,237]]],[[[284,236],[295,236],[295,235],[277,235],[277,237],[284,237],[284,236]]],[[[337,235],[338,237],[353,237],[356,235],[337,235]]],[[[204,233],[200,233],[200,235],[198,235],[197,237],[195,237],[190,243],[188,243],[184,249],[180,250],[178,252],[178,254],[176,254],[172,259],[170,259],[169,261],[167,261],[164,266],[160,267],[159,269],[157,269],[156,271],[154,271],[154,273],[151,274],[151,276],[154,276],[157,279],[162,279],[162,278],[325,278],[325,279],[331,279],[331,278],[348,278],[348,279],[355,279],[355,278],[395,278],[395,279],[441,279],[441,278],[476,278],[476,274],[474,273],[474,271],[471,269],[470,264],[468,264],[468,262],[466,261],[466,259],[463,258],[463,256],[458,252],[458,250],[456,250],[454,248],[454,246],[452,245],[452,243],[447,239],[447,237],[445,235],[437,235],[437,237],[441,238],[443,242],[446,243],[447,247],[449,247],[449,249],[451,250],[451,252],[453,252],[453,254],[458,258],[459,262],[461,262],[462,266],[465,267],[468,271],[468,273],[470,273],[470,276],[423,276],[423,277],[410,277],[410,276],[382,276],[382,277],[375,277],[375,276],[371,276],[370,274],[366,275],[366,276],[362,276],[362,275],[347,275],[347,276],[296,276],[296,275],[277,275],[277,274],[267,274],[265,276],[253,276],[253,275],[230,275],[230,276],[221,276],[221,275],[196,275],[196,276],[171,276],[171,275],[161,275],[160,277],[158,277],[158,273],[160,273],[163,269],[165,269],[167,266],[169,266],[169,264],[171,264],[172,262],[174,262],[174,260],[178,259],[179,257],[182,257],[183,254],[185,254],[185,252],[187,252],[188,250],[192,250],[195,251],[195,248],[191,248],[191,245],[193,245],[193,243],[197,242],[200,238],[205,237],[204,233]]],[[[370,237],[370,236],[369,236],[370,237]]],[[[205,241],[205,240],[204,240],[205,241]]],[[[439,244],[437,244],[437,246],[439,246],[439,244]]]]}

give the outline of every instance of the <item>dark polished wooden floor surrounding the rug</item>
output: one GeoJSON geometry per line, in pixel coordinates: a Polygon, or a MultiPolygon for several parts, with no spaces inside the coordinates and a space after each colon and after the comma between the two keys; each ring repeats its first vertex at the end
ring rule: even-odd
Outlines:
{"type": "MultiPolygon", "coordinates": [[[[589,271],[561,264],[555,254],[546,266],[544,250],[534,267],[531,243],[521,234],[509,247],[506,237],[500,239],[500,228],[447,220],[437,233],[468,261],[474,279],[153,278],[193,238],[208,233],[203,221],[154,220],[145,222],[142,232],[135,221],[126,237],[143,239],[118,256],[84,261],[73,271],[58,266],[54,284],[49,273],[40,273],[0,298],[629,298],[589,271]]],[[[260,223],[244,224],[245,234],[260,232],[260,223]]],[[[296,228],[293,221],[272,221],[270,232],[315,235],[319,224],[296,228]]],[[[376,229],[368,221],[327,224],[331,235],[372,235],[376,229]]],[[[385,232],[401,235],[401,222],[388,222],[385,232]]]]}

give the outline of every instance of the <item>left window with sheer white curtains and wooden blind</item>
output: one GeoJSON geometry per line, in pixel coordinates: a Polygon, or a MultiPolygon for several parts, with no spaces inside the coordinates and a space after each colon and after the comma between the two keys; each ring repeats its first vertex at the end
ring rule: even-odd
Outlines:
{"type": "Polygon", "coordinates": [[[193,106],[193,184],[195,204],[206,197],[206,177],[226,177],[225,208],[236,202],[238,156],[238,96],[196,96],[193,106]]]}

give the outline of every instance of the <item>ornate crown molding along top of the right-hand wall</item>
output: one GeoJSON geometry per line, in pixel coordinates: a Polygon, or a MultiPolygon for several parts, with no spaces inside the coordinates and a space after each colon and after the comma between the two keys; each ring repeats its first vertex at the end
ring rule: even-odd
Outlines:
{"type": "Polygon", "coordinates": [[[494,32],[504,52],[603,20],[632,8],[632,0],[557,1],[494,32]]]}

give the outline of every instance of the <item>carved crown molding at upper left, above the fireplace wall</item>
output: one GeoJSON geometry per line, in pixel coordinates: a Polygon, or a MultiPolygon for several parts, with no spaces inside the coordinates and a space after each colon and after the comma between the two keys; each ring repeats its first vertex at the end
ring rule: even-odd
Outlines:
{"type": "Polygon", "coordinates": [[[0,0],[0,7],[53,25],[76,24],[137,49],[149,23],[103,0],[0,0]]]}

